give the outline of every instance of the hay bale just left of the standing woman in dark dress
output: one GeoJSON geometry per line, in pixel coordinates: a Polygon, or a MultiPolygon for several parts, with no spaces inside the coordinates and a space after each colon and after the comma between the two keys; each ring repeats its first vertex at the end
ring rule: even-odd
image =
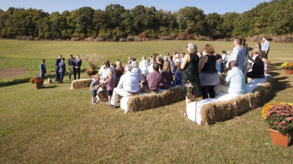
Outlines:
{"type": "Polygon", "coordinates": [[[158,97],[161,106],[165,106],[183,100],[185,98],[185,95],[181,94],[180,87],[175,87],[163,91],[158,97]]]}

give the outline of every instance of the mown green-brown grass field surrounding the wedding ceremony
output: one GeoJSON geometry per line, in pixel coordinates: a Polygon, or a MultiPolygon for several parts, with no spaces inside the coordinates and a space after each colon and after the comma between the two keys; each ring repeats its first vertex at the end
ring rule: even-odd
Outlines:
{"type": "MultiPolygon", "coordinates": [[[[58,54],[67,58],[71,53],[97,53],[113,62],[154,52],[184,52],[188,42],[0,40],[4,59],[0,68],[34,67],[19,78],[24,79],[38,72],[42,58],[53,70],[58,54]]],[[[195,43],[202,48],[208,42],[195,43]]],[[[210,43],[217,52],[232,48],[231,42],[210,43]]],[[[274,94],[270,101],[293,102],[293,76],[280,67],[293,62],[293,44],[271,47],[274,94]]],[[[0,87],[0,163],[293,163],[293,146],[272,144],[262,108],[202,127],[181,116],[184,101],[125,115],[106,104],[91,105],[89,88],[69,90],[68,77],[64,80],[40,90],[29,83],[0,87]]]]}

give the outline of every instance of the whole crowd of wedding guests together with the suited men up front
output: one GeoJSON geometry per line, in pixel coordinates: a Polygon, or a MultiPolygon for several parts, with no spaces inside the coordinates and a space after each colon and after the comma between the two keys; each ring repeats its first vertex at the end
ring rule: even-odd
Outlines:
{"type": "MultiPolygon", "coordinates": [[[[220,93],[241,95],[246,93],[248,78],[264,78],[268,73],[269,41],[263,37],[262,44],[256,43],[256,48],[248,47],[244,38],[235,38],[233,50],[215,53],[212,45],[206,44],[199,50],[194,43],[186,46],[188,53],[165,53],[164,56],[154,53],[149,57],[142,56],[140,61],[128,57],[126,64],[116,59],[116,64],[108,60],[103,62],[99,73],[94,75],[90,86],[92,104],[99,101],[99,92],[107,90],[110,108],[117,108],[119,95],[122,97],[135,96],[140,93],[157,94],[159,89],[169,89],[183,86],[187,81],[193,84],[192,98],[186,96],[186,105],[195,100],[195,95],[202,98],[215,98],[220,93]],[[219,76],[226,72],[225,79],[220,82],[219,76]]],[[[66,71],[65,59],[59,55],[55,61],[55,82],[63,83],[66,71]]],[[[81,59],[70,55],[67,66],[69,79],[72,72],[74,80],[80,78],[81,59]]],[[[44,78],[45,59],[40,64],[40,76],[44,78]]],[[[186,93],[186,88],[181,87],[181,92],[186,93]]]]}

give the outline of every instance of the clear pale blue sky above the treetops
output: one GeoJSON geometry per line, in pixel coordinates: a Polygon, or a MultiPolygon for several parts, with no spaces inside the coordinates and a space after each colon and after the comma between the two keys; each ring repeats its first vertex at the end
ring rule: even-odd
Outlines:
{"type": "Polygon", "coordinates": [[[185,6],[195,6],[203,9],[205,14],[217,12],[224,14],[225,12],[238,12],[250,10],[261,2],[269,2],[269,0],[193,0],[193,1],[182,1],[182,0],[0,0],[0,9],[6,11],[10,6],[21,7],[21,8],[35,8],[42,9],[45,12],[52,13],[59,11],[60,13],[64,10],[74,10],[83,6],[90,6],[93,9],[104,10],[106,5],[109,4],[120,4],[126,9],[132,9],[136,5],[144,6],[155,6],[156,9],[163,9],[168,11],[175,11],[185,6]]]}

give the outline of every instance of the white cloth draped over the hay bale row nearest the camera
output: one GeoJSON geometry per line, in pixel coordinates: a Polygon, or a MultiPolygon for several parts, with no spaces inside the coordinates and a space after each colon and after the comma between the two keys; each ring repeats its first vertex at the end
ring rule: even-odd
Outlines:
{"type": "MultiPolygon", "coordinates": [[[[256,87],[259,87],[260,84],[266,82],[267,77],[272,77],[272,76],[269,74],[266,74],[265,78],[252,79],[251,82],[246,84],[247,93],[251,93],[252,90],[254,90],[256,87]]],[[[203,99],[203,100],[197,102],[197,110],[195,110],[195,102],[191,102],[187,105],[186,114],[187,114],[188,118],[194,122],[195,121],[195,111],[196,111],[196,123],[201,124],[200,112],[201,112],[201,107],[203,105],[213,103],[213,102],[230,101],[231,99],[236,98],[236,97],[237,96],[235,96],[233,94],[223,93],[223,94],[216,96],[215,98],[206,98],[206,99],[203,99]]]]}

